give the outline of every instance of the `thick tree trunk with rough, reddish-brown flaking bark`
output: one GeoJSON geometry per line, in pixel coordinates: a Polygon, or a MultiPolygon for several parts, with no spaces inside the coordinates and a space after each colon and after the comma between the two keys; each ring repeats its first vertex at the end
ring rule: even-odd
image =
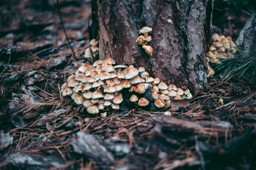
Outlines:
{"type": "Polygon", "coordinates": [[[92,0],[99,58],[143,66],[152,77],[195,94],[206,90],[204,48],[210,41],[212,8],[213,0],[92,0]],[[135,42],[143,26],[153,29],[152,56],[135,42]]]}

